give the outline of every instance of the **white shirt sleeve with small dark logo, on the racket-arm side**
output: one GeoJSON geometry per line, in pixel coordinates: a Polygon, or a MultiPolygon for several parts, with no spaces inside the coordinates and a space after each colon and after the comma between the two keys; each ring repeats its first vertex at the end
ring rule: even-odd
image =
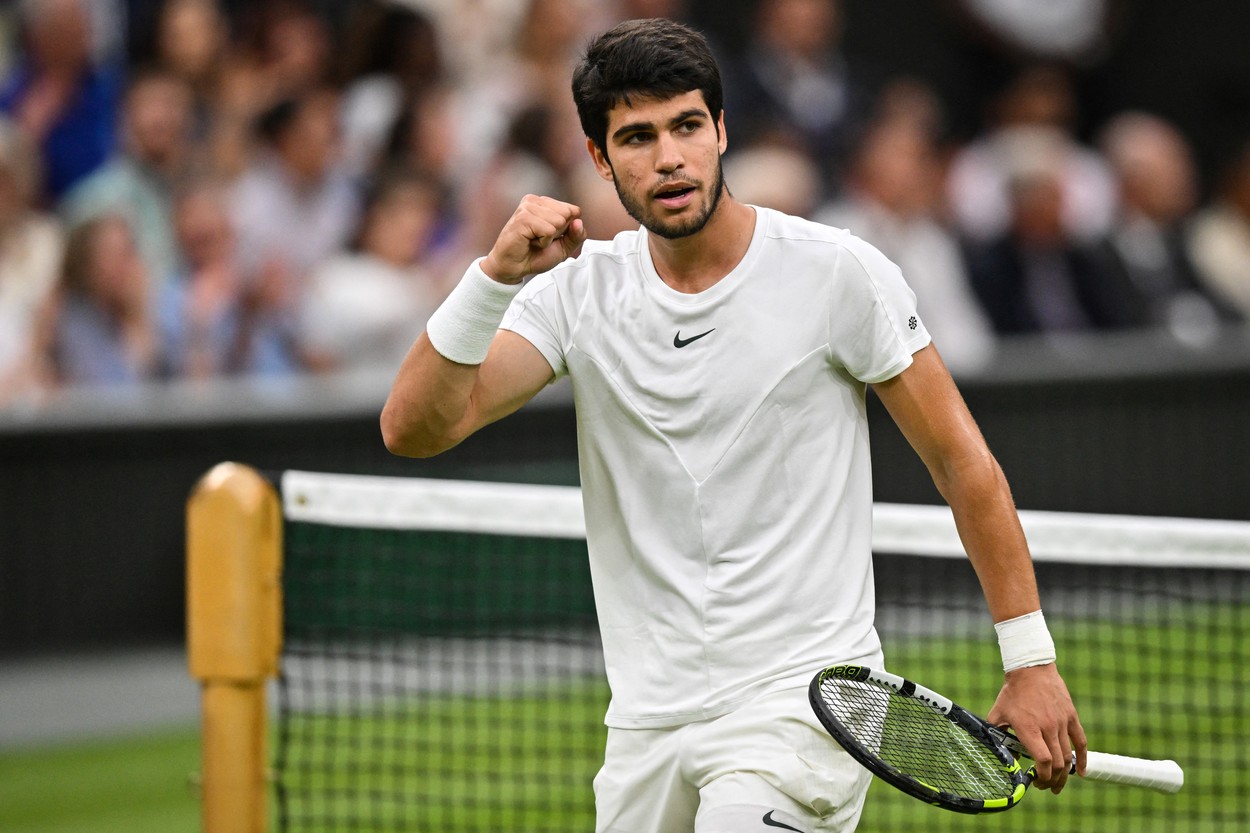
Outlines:
{"type": "Polygon", "coordinates": [[[860,381],[892,379],[930,343],[916,296],[902,273],[876,248],[846,236],[834,274],[830,309],[832,360],[860,381]]]}

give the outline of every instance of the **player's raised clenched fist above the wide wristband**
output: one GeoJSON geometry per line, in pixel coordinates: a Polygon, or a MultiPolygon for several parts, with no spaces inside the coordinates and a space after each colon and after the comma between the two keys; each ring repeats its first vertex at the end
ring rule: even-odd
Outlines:
{"type": "Polygon", "coordinates": [[[494,280],[518,284],[562,263],[585,240],[580,208],[530,194],[499,233],[481,269],[494,280]]]}

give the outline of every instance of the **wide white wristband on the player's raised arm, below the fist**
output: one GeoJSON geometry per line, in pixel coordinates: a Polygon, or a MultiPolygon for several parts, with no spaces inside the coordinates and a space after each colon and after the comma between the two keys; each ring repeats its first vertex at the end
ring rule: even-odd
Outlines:
{"type": "Polygon", "coordinates": [[[456,364],[481,364],[499,323],[521,284],[501,284],[474,260],[446,300],[425,325],[430,344],[456,364]]]}

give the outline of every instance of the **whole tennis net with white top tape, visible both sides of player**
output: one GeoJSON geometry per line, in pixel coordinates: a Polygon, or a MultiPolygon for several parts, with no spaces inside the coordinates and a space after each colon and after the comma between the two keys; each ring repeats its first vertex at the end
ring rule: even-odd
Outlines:
{"type": "MultiPolygon", "coordinates": [[[[609,693],[575,490],[291,474],[278,828],[594,829],[609,693]]],[[[898,509],[874,533],[888,668],[985,714],[1001,664],[976,578],[925,554],[950,534],[926,532],[929,508],[898,509]]],[[[1140,548],[1168,544],[1146,564],[1084,545],[1134,539],[1132,523],[1064,519],[1071,558],[1044,548],[1038,578],[1090,747],[1172,758],[1185,787],[1039,792],[1015,830],[1250,828],[1250,525],[1144,522],[1140,548]]],[[[979,822],[874,784],[859,830],[979,822]]]]}

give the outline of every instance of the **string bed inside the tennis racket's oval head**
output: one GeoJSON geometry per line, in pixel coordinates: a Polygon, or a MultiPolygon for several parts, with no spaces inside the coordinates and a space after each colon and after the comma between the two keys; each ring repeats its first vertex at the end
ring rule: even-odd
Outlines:
{"type": "Polygon", "coordinates": [[[821,698],[860,745],[902,775],[966,798],[1015,789],[992,750],[920,700],[846,679],[825,680],[821,698]]]}

